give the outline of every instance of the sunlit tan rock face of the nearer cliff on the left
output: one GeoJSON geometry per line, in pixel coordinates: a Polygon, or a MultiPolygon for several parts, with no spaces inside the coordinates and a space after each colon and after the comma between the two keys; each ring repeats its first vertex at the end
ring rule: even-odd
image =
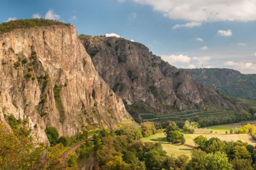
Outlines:
{"type": "Polygon", "coordinates": [[[0,35],[0,117],[28,118],[38,141],[46,126],[74,135],[87,125],[131,120],[122,99],[99,77],[74,26],[0,35]]]}

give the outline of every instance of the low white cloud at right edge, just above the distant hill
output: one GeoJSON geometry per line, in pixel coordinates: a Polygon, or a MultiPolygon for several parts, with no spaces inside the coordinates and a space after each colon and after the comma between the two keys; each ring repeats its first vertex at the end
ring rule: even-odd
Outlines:
{"type": "Polygon", "coordinates": [[[225,65],[234,66],[235,70],[241,71],[242,73],[245,73],[245,74],[256,73],[256,63],[227,61],[225,62],[225,65]]]}

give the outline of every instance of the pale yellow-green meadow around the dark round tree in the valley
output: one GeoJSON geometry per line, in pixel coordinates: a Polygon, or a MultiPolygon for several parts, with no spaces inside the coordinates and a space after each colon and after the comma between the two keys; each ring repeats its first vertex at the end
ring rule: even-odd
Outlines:
{"type": "MultiPolygon", "coordinates": [[[[179,155],[191,155],[192,150],[195,147],[195,143],[193,142],[193,139],[198,137],[198,135],[201,134],[184,134],[184,137],[186,139],[185,145],[180,145],[180,144],[171,144],[166,142],[165,139],[165,134],[164,133],[157,133],[154,135],[151,135],[150,137],[143,138],[143,142],[161,142],[163,149],[167,152],[167,155],[174,155],[174,156],[179,156],[179,155]]],[[[206,138],[212,138],[212,137],[217,137],[220,140],[226,140],[226,141],[237,141],[237,140],[242,140],[244,142],[247,142],[251,145],[256,145],[256,142],[254,142],[251,138],[250,134],[202,134],[206,138]]]]}

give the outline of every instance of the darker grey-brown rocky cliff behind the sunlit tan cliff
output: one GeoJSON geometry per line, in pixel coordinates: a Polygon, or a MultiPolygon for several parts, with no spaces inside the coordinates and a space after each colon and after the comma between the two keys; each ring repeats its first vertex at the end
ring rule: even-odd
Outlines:
{"type": "Polygon", "coordinates": [[[114,37],[80,38],[101,77],[129,108],[142,107],[140,112],[235,109],[187,71],[162,61],[142,44],[114,37]]]}

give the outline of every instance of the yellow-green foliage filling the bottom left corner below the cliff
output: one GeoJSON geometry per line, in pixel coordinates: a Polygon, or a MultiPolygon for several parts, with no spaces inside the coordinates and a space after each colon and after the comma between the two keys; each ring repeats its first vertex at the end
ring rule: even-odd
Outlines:
{"type": "Polygon", "coordinates": [[[27,121],[10,130],[0,122],[0,169],[65,169],[59,159],[62,145],[36,147],[27,121]]]}

